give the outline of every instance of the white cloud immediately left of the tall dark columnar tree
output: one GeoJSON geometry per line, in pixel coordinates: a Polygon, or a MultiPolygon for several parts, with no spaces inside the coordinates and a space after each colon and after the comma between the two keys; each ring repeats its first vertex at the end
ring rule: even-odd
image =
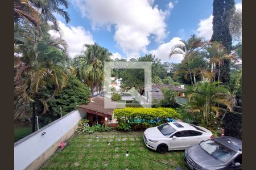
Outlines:
{"type": "Polygon", "coordinates": [[[210,40],[212,37],[212,19],[213,15],[210,15],[207,19],[200,20],[200,23],[198,24],[198,28],[196,29],[197,35],[200,37],[204,37],[206,40],[210,40]]]}

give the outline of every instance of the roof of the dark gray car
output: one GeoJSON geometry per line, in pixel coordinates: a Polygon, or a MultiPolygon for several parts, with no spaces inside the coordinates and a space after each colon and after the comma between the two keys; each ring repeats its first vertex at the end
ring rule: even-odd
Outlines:
{"type": "Polygon", "coordinates": [[[214,141],[221,143],[233,151],[242,151],[242,140],[234,137],[218,137],[214,138],[214,141]]]}

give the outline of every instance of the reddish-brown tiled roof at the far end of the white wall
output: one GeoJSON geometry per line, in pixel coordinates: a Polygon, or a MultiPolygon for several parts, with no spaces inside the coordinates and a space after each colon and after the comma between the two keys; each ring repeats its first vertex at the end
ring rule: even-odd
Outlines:
{"type": "Polygon", "coordinates": [[[93,98],[94,102],[88,104],[80,105],[79,108],[89,109],[91,111],[96,111],[103,114],[108,114],[112,116],[114,109],[104,108],[104,97],[98,96],[93,98]]]}

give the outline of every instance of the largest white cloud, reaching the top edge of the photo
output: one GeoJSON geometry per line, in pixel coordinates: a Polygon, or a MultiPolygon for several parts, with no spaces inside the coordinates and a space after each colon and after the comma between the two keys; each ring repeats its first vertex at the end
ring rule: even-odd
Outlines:
{"type": "Polygon", "coordinates": [[[73,0],[82,17],[92,20],[92,28],[114,25],[114,40],[127,56],[146,53],[149,37],[162,42],[167,36],[164,19],[169,10],[162,11],[152,0],[73,0]]]}

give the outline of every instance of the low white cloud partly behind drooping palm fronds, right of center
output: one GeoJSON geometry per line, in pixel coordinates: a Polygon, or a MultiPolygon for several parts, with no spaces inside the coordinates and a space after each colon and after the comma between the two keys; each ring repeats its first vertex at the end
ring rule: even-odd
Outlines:
{"type": "Polygon", "coordinates": [[[180,63],[183,59],[183,54],[174,54],[169,58],[172,47],[176,44],[183,44],[180,40],[181,39],[179,37],[174,37],[169,42],[161,44],[156,50],[151,50],[150,53],[155,55],[156,58],[161,59],[162,62],[180,63]]]}

